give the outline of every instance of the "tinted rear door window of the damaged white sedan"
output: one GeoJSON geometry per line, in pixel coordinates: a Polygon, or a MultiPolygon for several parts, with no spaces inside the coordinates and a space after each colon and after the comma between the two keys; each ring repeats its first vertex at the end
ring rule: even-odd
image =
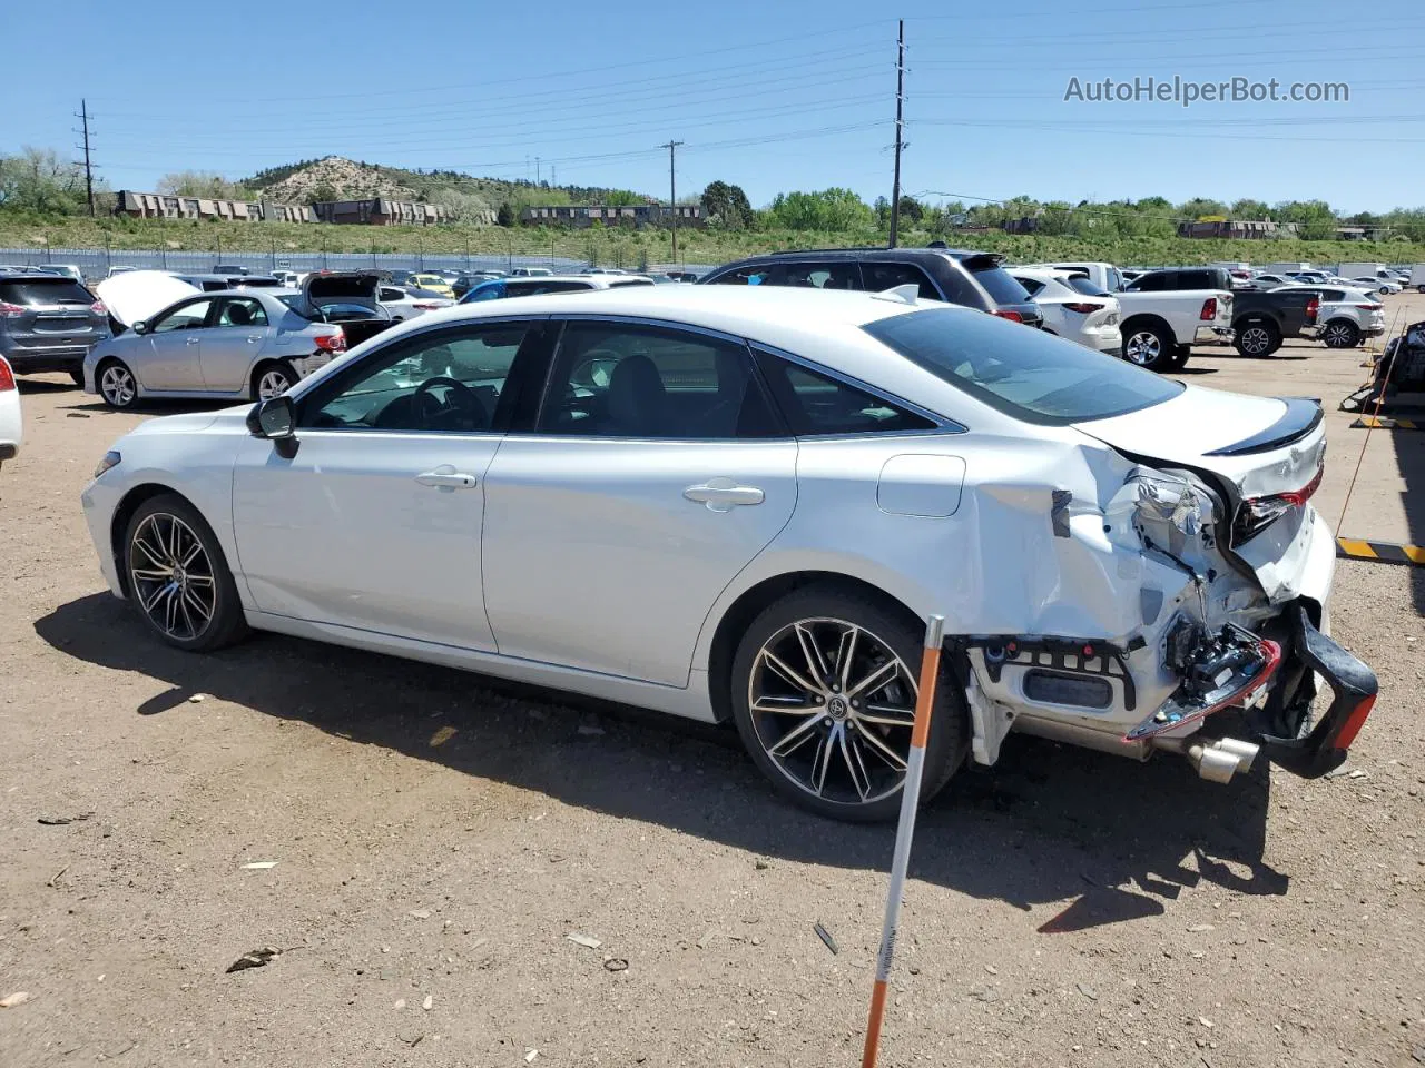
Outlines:
{"type": "Polygon", "coordinates": [[[564,328],[539,417],[546,434],[734,439],[775,433],[747,346],[598,322],[564,328]]]}

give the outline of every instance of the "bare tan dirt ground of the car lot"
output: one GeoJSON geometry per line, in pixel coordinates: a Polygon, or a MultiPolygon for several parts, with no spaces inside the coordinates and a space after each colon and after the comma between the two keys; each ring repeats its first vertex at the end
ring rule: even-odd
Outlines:
{"type": "MultiPolygon", "coordinates": [[[[1184,377],[1334,410],[1359,360],[1184,377]]],[[[0,998],[30,995],[0,1065],[859,1062],[889,829],[788,807],[730,733],[275,637],[160,646],[78,506],[142,416],[93,402],[28,380],[0,473],[0,998]]],[[[1372,433],[1344,533],[1425,541],[1422,454],[1372,433]]],[[[1342,562],[1337,637],[1382,688],[1349,775],[1221,787],[1032,739],[960,775],[921,820],[884,1062],[1425,1061],[1422,612],[1425,568],[1342,562]]]]}

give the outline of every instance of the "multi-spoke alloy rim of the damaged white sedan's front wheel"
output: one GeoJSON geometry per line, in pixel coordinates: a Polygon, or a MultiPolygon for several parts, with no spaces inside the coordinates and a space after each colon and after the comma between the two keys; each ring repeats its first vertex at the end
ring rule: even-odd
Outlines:
{"type": "Polygon", "coordinates": [[[128,572],[140,608],[167,637],[192,641],[208,629],[218,597],[212,561],[181,518],[155,511],[138,525],[128,572]]]}

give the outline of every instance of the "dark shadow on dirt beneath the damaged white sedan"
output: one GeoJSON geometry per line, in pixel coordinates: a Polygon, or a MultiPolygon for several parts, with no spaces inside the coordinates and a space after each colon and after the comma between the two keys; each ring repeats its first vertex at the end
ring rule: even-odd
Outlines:
{"type": "MultiPolygon", "coordinates": [[[[164,715],[204,692],[757,854],[889,863],[892,827],[835,824],[782,802],[731,729],[276,635],[184,654],[107,594],[57,608],[36,631],[77,659],[167,682],[138,715],[164,715]],[[606,733],[580,733],[590,718],[606,733]]],[[[1069,900],[1046,933],[1160,914],[1201,880],[1284,894],[1288,877],[1263,860],[1268,800],[1265,768],[1224,787],[1178,759],[1137,765],[1016,736],[993,772],[960,772],[922,813],[912,874],[1023,910],[1069,900]]]]}

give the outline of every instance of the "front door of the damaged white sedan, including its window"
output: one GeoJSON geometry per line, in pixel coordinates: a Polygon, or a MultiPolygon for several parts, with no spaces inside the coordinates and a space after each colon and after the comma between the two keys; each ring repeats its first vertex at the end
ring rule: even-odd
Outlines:
{"type": "Polygon", "coordinates": [[[408,335],[299,396],[294,459],[245,441],[232,518],[256,607],[493,649],[480,588],[486,471],[516,355],[539,333],[504,322],[408,335]]]}

